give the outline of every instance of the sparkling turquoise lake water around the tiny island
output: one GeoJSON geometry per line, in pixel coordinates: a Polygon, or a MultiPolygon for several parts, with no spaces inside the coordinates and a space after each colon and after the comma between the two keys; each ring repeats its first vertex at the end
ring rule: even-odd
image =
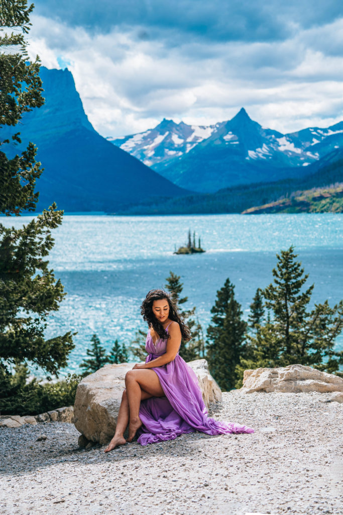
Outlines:
{"type": "MultiPolygon", "coordinates": [[[[20,227],[32,217],[2,217],[7,227],[20,227]]],[[[236,286],[244,317],[258,287],[272,282],[276,253],[295,246],[308,285],[315,284],[312,305],[343,298],[343,215],[65,215],[53,231],[50,265],[68,295],[50,317],[46,336],[77,331],[68,368],[79,363],[93,333],[110,349],[114,340],[130,344],[146,330],[140,304],[152,288],[165,286],[172,270],[181,276],[183,294],[196,306],[206,332],[216,291],[226,280],[236,286]],[[188,229],[201,236],[204,254],[175,255],[188,229]]],[[[187,307],[186,304],[184,304],[187,307]]],[[[343,337],[336,342],[343,348],[343,337]]]]}

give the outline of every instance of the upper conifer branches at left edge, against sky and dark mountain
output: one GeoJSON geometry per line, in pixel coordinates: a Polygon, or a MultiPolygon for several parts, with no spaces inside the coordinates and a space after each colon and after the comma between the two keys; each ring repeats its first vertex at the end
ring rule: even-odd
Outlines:
{"type": "MultiPolygon", "coordinates": [[[[26,50],[32,9],[33,4],[27,7],[26,0],[0,3],[0,126],[15,126],[23,113],[44,104],[40,60],[37,56],[34,62],[29,61],[26,50]],[[9,34],[8,29],[19,33],[9,34]]],[[[7,215],[34,211],[39,196],[34,193],[35,180],[43,171],[35,162],[37,149],[32,143],[21,156],[7,158],[5,147],[21,143],[19,136],[17,132],[11,142],[0,141],[0,212],[7,215]]]]}

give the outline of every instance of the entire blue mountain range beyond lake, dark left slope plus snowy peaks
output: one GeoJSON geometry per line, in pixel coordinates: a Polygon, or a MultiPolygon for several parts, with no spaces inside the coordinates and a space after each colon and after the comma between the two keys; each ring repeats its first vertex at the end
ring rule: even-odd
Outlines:
{"type": "Polygon", "coordinates": [[[56,201],[67,212],[238,213],[294,190],[343,182],[343,122],[281,134],[242,108],[208,127],[164,119],[109,141],[88,121],[68,70],[42,66],[40,73],[45,105],[0,133],[5,140],[21,132],[21,145],[6,145],[9,155],[29,141],[38,146],[38,211],[56,201]]]}

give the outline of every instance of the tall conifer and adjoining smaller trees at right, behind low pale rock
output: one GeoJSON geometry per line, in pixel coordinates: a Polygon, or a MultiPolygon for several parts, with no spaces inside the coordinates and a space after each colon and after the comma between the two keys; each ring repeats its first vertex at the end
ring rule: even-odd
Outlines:
{"type": "Polygon", "coordinates": [[[293,246],[277,254],[274,283],[262,290],[272,316],[257,324],[256,335],[250,337],[250,357],[242,357],[237,369],[241,376],[246,368],[298,363],[343,375],[337,372],[343,351],[334,350],[335,338],[343,329],[343,301],[330,307],[326,300],[308,311],[314,285],[303,290],[309,276],[296,258],[293,246]]]}

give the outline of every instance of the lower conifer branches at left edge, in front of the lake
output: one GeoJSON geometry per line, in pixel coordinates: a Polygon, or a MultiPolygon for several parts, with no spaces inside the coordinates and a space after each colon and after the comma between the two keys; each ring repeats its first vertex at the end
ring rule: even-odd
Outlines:
{"type": "Polygon", "coordinates": [[[45,260],[53,246],[50,230],[62,213],[52,205],[22,229],[0,224],[0,362],[28,360],[57,374],[73,349],[69,332],[46,340],[47,317],[65,293],[45,260]]]}

